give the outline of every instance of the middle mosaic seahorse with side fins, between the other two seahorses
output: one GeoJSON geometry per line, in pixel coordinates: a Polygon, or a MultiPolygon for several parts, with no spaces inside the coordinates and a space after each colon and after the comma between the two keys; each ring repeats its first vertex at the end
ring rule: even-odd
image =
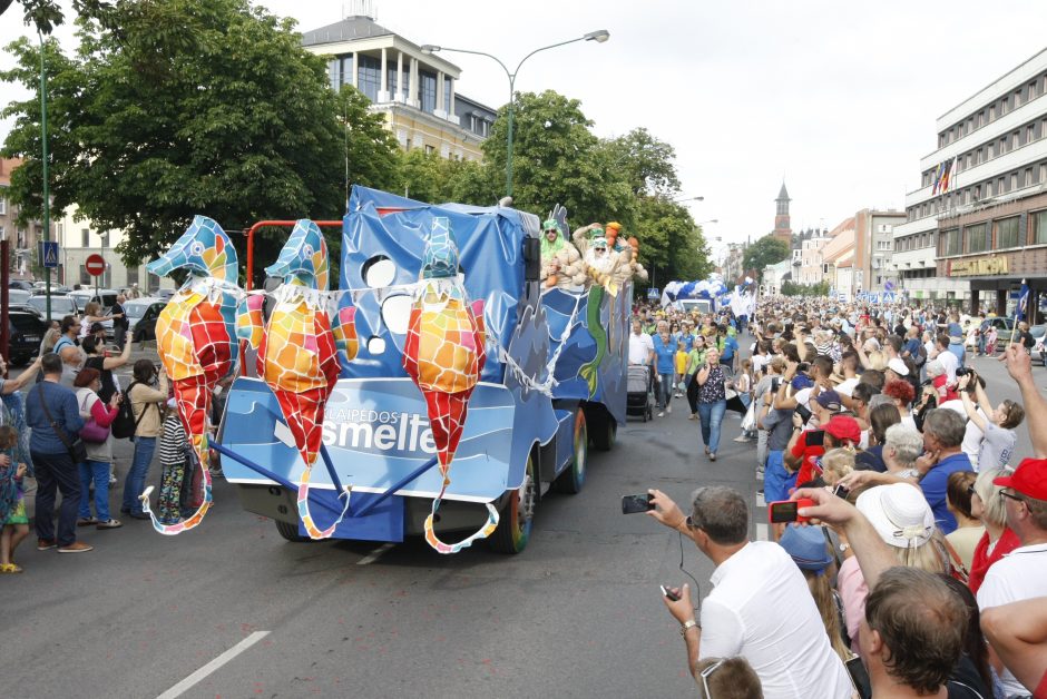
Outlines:
{"type": "Polygon", "coordinates": [[[349,510],[350,489],[341,515],[321,530],[309,509],[309,483],[320,454],[324,406],[334,391],[341,366],[339,352],[351,362],[359,348],[353,324],[355,308],[337,312],[332,329],[327,312],[327,244],[315,223],[295,223],[276,262],[265,269],[284,283],[273,293],[276,304],[266,324],[264,297],[252,295],[237,313],[236,334],[258,348],[258,375],[280,403],[284,422],[305,463],[299,481],[299,518],[311,539],[327,539],[349,510]]]}

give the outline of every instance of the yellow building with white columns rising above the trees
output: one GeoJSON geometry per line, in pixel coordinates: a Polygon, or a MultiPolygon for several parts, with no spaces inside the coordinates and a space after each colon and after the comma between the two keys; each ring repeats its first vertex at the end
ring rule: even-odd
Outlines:
{"type": "Polygon", "coordinates": [[[329,57],[331,87],[352,85],[400,146],[423,148],[443,158],[479,160],[480,144],[496,112],[458,93],[461,69],[365,16],[355,16],[302,35],[306,51],[329,57]]]}

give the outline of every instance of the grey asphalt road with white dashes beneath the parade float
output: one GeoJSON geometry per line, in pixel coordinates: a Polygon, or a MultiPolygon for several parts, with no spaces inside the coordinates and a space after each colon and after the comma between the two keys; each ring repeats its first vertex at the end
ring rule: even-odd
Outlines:
{"type": "MultiPolygon", "coordinates": [[[[1002,365],[977,360],[994,401],[1018,397],[1002,365]]],[[[1037,367],[1047,384],[1047,371],[1037,367]]],[[[424,542],[288,543],[239,509],[224,481],[195,531],[148,522],[80,530],[95,551],[18,553],[0,582],[0,667],[11,697],[635,697],[693,683],[659,583],[681,584],[679,538],[620,496],[649,486],[686,502],[699,484],[740,489],[765,536],[755,449],[731,439],[702,455],[686,401],[630,420],[590,452],[585,489],[540,503],[527,550],[476,545],[441,557],[424,542]],[[194,680],[196,680],[194,682],[194,680]]],[[[1030,453],[1019,430],[1019,453],[1030,453]]],[[[126,443],[125,443],[126,444],[126,443]]],[[[130,453],[118,450],[120,475],[130,453]]],[[[159,474],[154,463],[150,481],[159,474]]],[[[114,503],[118,503],[118,491],[114,503]]],[[[118,506],[118,505],[117,505],[118,506]]],[[[712,564],[687,540],[684,567],[712,564]]]]}

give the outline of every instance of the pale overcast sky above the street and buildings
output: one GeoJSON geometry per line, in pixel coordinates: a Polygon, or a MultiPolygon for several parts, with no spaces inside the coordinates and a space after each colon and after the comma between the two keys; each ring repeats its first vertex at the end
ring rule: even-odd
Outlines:
{"type": "MultiPolygon", "coordinates": [[[[341,0],[264,0],[306,31],[339,21],[341,0]]],[[[376,21],[408,40],[493,53],[610,31],[524,65],[517,89],[581,100],[598,136],[646,127],[676,149],[683,195],[706,235],[771,230],[784,174],[793,229],[832,228],[864,207],[904,208],[935,120],[1047,47],[1047,2],[736,0],[375,0],[376,21]],[[510,13],[511,8],[511,13],[510,13]]],[[[27,32],[16,3],[0,46],[27,32]]],[[[58,32],[71,46],[71,31],[58,32]]],[[[444,53],[458,89],[491,107],[508,80],[493,61],[444,53]]],[[[10,66],[0,57],[0,67],[10,66]]],[[[12,88],[0,85],[0,101],[12,88]]],[[[0,122],[6,136],[9,122],[0,122]]],[[[551,206],[554,203],[550,201],[551,206]]],[[[278,216],[280,211],[273,211],[278,216]]]]}

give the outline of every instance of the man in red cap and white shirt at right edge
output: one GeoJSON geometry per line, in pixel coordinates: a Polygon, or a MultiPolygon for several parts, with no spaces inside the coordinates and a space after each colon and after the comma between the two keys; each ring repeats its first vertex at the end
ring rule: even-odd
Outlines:
{"type": "MultiPolygon", "coordinates": [[[[1007,526],[1021,545],[989,568],[978,589],[981,610],[1047,595],[1047,459],[1026,459],[1014,475],[995,479],[992,484],[1004,489],[1007,526]]],[[[1006,697],[1033,691],[1006,668],[1000,681],[1006,697]]]]}

